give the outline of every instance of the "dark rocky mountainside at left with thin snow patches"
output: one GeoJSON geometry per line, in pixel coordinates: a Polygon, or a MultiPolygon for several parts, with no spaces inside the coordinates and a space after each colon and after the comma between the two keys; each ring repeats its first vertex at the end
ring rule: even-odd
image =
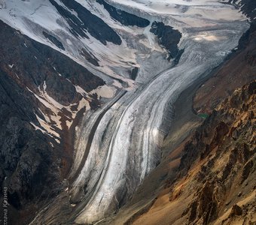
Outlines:
{"type": "Polygon", "coordinates": [[[90,92],[105,83],[65,55],[2,21],[0,29],[1,193],[8,187],[9,222],[21,224],[66,185],[62,176],[72,162],[72,146],[67,147],[71,143],[62,142],[62,138],[74,135],[66,124],[83,98],[75,86],[79,84],[90,92]],[[50,98],[42,95],[42,90],[62,104],[62,110],[53,111],[50,98]],[[64,110],[71,104],[74,109],[64,110]],[[44,126],[45,118],[51,127],[44,126]],[[26,210],[32,213],[28,216],[26,210]]]}

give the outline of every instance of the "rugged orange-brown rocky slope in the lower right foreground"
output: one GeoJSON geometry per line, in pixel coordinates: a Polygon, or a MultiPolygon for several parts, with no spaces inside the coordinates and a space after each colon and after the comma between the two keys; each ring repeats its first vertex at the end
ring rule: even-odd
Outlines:
{"type": "Polygon", "coordinates": [[[189,141],[169,155],[175,159],[183,151],[169,163],[176,178],[130,223],[256,223],[255,103],[254,81],[219,104],[189,141]]]}

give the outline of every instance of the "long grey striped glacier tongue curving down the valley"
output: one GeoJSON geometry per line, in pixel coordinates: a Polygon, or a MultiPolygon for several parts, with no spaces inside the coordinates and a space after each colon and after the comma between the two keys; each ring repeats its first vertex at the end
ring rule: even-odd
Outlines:
{"type": "Polygon", "coordinates": [[[145,175],[157,166],[161,142],[167,131],[163,124],[168,122],[163,114],[166,106],[172,104],[187,86],[221,63],[227,52],[237,45],[244,28],[245,23],[237,22],[222,24],[217,31],[203,31],[203,34],[225,37],[213,42],[195,40],[197,35],[203,35],[200,32],[187,32],[181,43],[185,50],[179,64],[158,74],[142,89],[126,93],[102,118],[102,126],[96,133],[108,133],[111,142],[100,146],[97,145],[100,139],[96,139],[96,148],[91,149],[94,150],[90,151],[85,163],[89,169],[82,170],[75,182],[73,190],[79,188],[79,182],[87,181],[90,193],[90,201],[79,214],[77,223],[92,223],[116,211],[120,202],[128,199],[145,175]],[[116,111],[116,107],[119,110],[116,111]],[[92,163],[97,160],[95,151],[104,159],[104,167],[102,163],[92,163]],[[93,175],[88,173],[91,169],[96,171],[93,175]]]}

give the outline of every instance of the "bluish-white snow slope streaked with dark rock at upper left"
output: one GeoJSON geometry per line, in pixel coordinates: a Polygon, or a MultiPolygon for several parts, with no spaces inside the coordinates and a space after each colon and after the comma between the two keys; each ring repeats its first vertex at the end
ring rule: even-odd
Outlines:
{"type": "MultiPolygon", "coordinates": [[[[57,2],[62,5],[60,1],[57,2]]],[[[76,15],[74,11],[69,11],[76,15]]],[[[104,17],[102,19],[104,20],[106,18],[104,17]]],[[[116,77],[117,79],[123,80],[125,83],[129,83],[129,79],[127,80],[119,74],[116,74],[111,68],[120,65],[124,68],[123,70],[126,71],[126,68],[129,67],[127,62],[133,62],[133,64],[136,65],[136,49],[129,49],[125,40],[123,40],[121,47],[112,43],[108,43],[108,45],[105,46],[89,33],[87,33],[87,36],[90,37],[90,39],[74,37],[69,31],[70,27],[68,23],[66,23],[66,20],[59,15],[56,8],[51,5],[48,0],[8,0],[6,7],[0,8],[0,20],[20,30],[23,34],[26,34],[32,39],[68,55],[75,62],[83,65],[94,74],[99,75],[95,67],[90,65],[80,53],[82,48],[87,49],[89,52],[93,52],[93,55],[99,59],[99,64],[101,65],[97,68],[98,71],[101,71],[99,76],[108,74],[108,76],[116,77]],[[42,31],[53,34],[53,36],[62,42],[66,50],[59,49],[51,43],[50,40],[47,40],[42,34],[42,31]]],[[[108,17],[108,20],[111,20],[110,17],[108,17]]],[[[121,26],[118,28],[121,28],[121,26]]],[[[133,30],[130,29],[130,33],[132,32],[133,30]]]]}

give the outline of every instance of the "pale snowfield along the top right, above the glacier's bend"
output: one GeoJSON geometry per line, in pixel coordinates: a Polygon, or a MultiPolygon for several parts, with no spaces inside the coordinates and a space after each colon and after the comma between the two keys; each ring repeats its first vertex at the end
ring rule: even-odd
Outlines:
{"type": "Polygon", "coordinates": [[[183,28],[215,26],[216,20],[245,20],[233,6],[214,0],[106,0],[121,9],[158,20],[182,31],[183,28]],[[161,18],[162,17],[162,18],[161,18]]]}

